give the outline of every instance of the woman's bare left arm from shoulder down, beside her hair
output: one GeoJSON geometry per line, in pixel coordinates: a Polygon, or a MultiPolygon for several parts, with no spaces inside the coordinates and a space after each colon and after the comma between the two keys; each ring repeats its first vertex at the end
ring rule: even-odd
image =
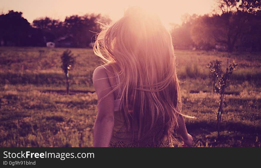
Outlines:
{"type": "Polygon", "coordinates": [[[98,113],[93,128],[93,147],[109,147],[114,127],[114,95],[104,67],[93,72],[93,85],[98,96],[98,113]],[[106,98],[102,99],[104,96],[106,98]]]}

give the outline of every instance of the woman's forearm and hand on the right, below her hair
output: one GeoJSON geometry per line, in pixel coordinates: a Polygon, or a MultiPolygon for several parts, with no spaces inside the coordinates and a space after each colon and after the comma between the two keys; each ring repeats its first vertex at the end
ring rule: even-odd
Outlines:
{"type": "Polygon", "coordinates": [[[193,138],[190,134],[187,133],[184,117],[182,115],[178,116],[178,123],[179,123],[179,127],[175,129],[177,134],[181,135],[182,140],[186,145],[191,146],[193,138]]]}

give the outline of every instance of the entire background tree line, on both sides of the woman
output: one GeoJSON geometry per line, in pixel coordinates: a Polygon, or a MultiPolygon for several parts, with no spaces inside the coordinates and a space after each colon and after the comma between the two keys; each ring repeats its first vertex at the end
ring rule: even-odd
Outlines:
{"type": "MultiPolygon", "coordinates": [[[[261,1],[217,0],[210,14],[184,15],[181,25],[172,24],[171,36],[176,48],[221,49],[223,51],[261,51],[261,1]]],[[[86,47],[111,19],[101,14],[67,16],[64,21],[48,17],[32,24],[22,12],[0,15],[1,45],[46,46],[46,42],[65,38],[70,47],[86,47]]]]}

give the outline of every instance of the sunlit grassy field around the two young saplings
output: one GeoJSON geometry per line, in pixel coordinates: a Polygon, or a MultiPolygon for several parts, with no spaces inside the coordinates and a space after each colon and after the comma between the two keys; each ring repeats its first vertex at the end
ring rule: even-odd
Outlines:
{"type": "MultiPolygon", "coordinates": [[[[0,47],[0,146],[90,147],[97,112],[92,73],[101,64],[91,49],[71,48],[76,64],[66,95],[60,55],[65,48],[0,47]]],[[[260,147],[261,53],[176,50],[182,112],[196,147],[260,147]],[[211,92],[211,60],[238,67],[225,95],[217,139],[218,95],[211,92]]],[[[180,138],[177,136],[177,139],[180,138]]],[[[176,146],[180,146],[177,144],[176,146]]]]}

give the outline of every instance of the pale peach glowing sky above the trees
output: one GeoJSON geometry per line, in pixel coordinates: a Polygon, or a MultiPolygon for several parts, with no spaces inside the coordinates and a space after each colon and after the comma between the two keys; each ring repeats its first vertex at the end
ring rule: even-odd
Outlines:
{"type": "Polygon", "coordinates": [[[23,12],[32,23],[34,19],[48,16],[64,21],[66,16],[101,13],[117,21],[130,6],[141,6],[161,18],[163,24],[181,24],[184,14],[203,15],[213,10],[214,0],[0,0],[0,12],[23,12]]]}

